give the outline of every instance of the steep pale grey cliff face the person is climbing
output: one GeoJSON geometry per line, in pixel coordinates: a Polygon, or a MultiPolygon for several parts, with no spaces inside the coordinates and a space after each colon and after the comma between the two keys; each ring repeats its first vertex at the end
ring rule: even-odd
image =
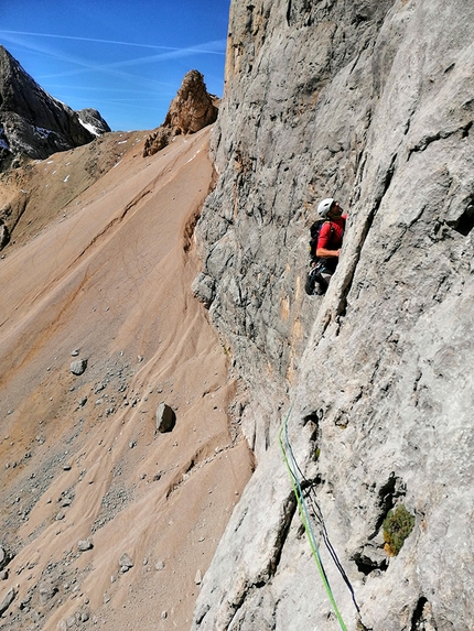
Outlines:
{"type": "Polygon", "coordinates": [[[247,384],[258,466],[193,630],[471,624],[473,24],[468,0],[231,4],[193,286],[247,384]],[[308,228],[328,196],[349,211],[343,255],[308,297],[308,228]],[[289,403],[337,611],[277,440],[289,403]],[[414,527],[390,557],[399,504],[414,527]]]}

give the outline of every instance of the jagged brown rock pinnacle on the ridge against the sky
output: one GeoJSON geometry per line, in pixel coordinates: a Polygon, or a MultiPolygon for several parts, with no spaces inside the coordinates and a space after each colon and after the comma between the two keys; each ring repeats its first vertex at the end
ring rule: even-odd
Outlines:
{"type": "Polygon", "coordinates": [[[212,124],[217,118],[217,101],[207,93],[204,76],[190,70],[171,101],[163,124],[146,139],[143,156],[161,151],[175,135],[195,133],[212,124]]]}

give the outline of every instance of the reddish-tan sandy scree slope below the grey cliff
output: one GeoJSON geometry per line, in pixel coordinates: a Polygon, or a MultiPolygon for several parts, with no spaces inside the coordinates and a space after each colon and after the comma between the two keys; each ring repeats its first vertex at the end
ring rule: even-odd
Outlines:
{"type": "MultiPolygon", "coordinates": [[[[0,543],[15,557],[0,600],[11,587],[18,595],[1,629],[56,629],[72,616],[83,629],[190,625],[195,579],[251,469],[227,414],[236,385],[226,353],[190,292],[192,228],[213,176],[208,134],[149,159],[126,137],[133,149],[115,167],[80,195],[73,187],[55,216],[50,202],[39,232],[23,218],[3,252],[0,543]],[[79,377],[75,359],[88,361],[79,377]],[[161,401],[177,422],[155,435],[161,401]],[[88,537],[93,550],[79,553],[88,537]],[[44,583],[52,598],[40,598],[44,583]]],[[[83,148],[56,154],[29,184],[47,185],[51,200],[83,163],[83,148]]]]}

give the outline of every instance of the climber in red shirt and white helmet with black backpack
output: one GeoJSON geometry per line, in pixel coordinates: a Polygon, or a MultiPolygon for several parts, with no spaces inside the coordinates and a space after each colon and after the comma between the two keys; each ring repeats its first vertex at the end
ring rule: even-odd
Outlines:
{"type": "Polygon", "coordinates": [[[340,203],[332,197],[323,199],[317,206],[320,219],[310,228],[311,269],[305,284],[310,295],[324,294],[334,274],[347,219],[343,213],[340,203]]]}

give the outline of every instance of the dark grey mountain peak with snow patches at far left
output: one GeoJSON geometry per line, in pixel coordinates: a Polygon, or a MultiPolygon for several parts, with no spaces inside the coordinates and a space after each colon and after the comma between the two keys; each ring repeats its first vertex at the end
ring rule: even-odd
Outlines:
{"type": "Polygon", "coordinates": [[[99,129],[86,129],[77,112],[46,94],[0,46],[0,171],[86,144],[99,129]]]}

